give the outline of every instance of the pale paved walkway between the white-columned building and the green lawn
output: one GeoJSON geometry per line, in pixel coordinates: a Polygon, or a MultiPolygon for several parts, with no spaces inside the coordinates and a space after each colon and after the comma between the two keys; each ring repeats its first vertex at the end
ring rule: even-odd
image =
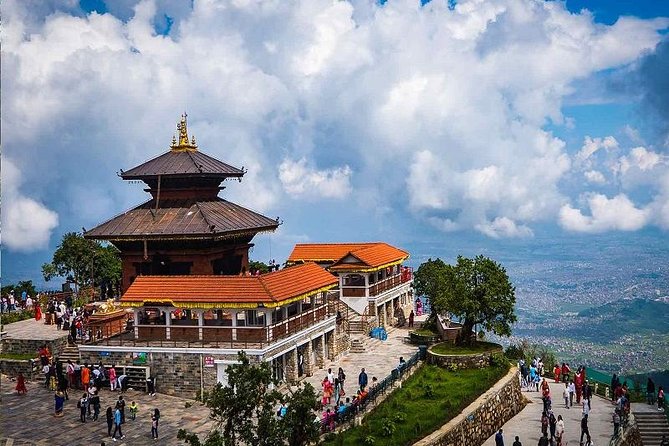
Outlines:
{"type": "MultiPolygon", "coordinates": [[[[372,377],[381,381],[390,375],[392,369],[399,364],[400,357],[409,359],[411,355],[418,351],[418,346],[410,345],[404,342],[404,338],[409,336],[408,328],[391,328],[388,332],[388,339],[385,341],[375,341],[373,348],[365,353],[346,353],[337,361],[326,361],[325,368],[317,368],[314,375],[305,379],[321,394],[323,378],[327,375],[328,368],[337,376],[339,367],[344,369],[346,374],[346,383],[344,389],[347,396],[355,395],[358,389],[358,375],[362,368],[365,368],[369,383],[372,383],[372,377]]],[[[334,401],[334,399],[333,399],[334,401]]]]}

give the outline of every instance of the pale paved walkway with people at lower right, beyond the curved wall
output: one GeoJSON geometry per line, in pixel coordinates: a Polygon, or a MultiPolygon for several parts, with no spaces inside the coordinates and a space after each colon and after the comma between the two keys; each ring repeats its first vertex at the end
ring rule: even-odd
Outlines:
{"type": "MultiPolygon", "coordinates": [[[[562,399],[564,384],[550,383],[553,398],[553,413],[555,416],[562,415],[565,424],[563,446],[578,446],[581,435],[581,407],[574,406],[565,408],[562,399]]],[[[536,446],[541,437],[541,412],[543,403],[540,392],[523,392],[530,403],[504,426],[504,444],[513,444],[514,437],[518,435],[523,446],[536,446]]],[[[596,446],[609,444],[613,435],[613,408],[610,401],[599,397],[592,397],[592,410],[588,415],[588,427],[592,441],[596,446]]],[[[550,435],[550,434],[549,434],[550,435]]],[[[490,437],[482,446],[495,446],[495,436],[490,437]]]]}

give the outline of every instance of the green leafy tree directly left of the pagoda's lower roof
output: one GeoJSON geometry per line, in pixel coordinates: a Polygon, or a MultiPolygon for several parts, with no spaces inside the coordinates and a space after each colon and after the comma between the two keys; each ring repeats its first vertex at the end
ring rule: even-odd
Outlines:
{"type": "Polygon", "coordinates": [[[63,235],[51,262],[42,265],[42,275],[46,281],[64,277],[77,288],[114,284],[121,279],[120,252],[114,245],[104,245],[85,239],[78,232],[68,232],[63,235]]]}

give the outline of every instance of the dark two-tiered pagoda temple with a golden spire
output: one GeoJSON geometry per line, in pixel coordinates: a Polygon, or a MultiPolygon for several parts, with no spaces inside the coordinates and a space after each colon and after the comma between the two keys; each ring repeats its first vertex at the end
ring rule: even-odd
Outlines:
{"type": "Polygon", "coordinates": [[[198,150],[186,118],[168,152],[120,173],[143,181],[151,199],[84,233],[121,251],[123,292],[138,276],[244,273],[253,237],[279,226],[218,196],[223,181],[245,171],[198,150]]]}

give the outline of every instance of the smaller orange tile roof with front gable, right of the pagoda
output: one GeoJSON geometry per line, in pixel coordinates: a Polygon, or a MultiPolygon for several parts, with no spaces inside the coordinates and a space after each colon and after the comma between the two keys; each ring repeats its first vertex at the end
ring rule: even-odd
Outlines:
{"type": "Polygon", "coordinates": [[[380,268],[401,262],[409,253],[384,242],[375,243],[300,243],[295,245],[288,257],[288,263],[328,262],[332,270],[380,268]],[[352,255],[359,263],[340,263],[346,256],[352,255]]]}

